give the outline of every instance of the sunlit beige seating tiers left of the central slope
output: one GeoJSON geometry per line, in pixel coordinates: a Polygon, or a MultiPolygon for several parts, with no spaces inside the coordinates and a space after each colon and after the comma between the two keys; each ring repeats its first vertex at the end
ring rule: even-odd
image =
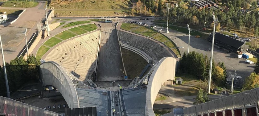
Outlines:
{"type": "Polygon", "coordinates": [[[92,79],[97,68],[97,56],[100,44],[101,30],[95,30],[77,37],[73,37],[51,48],[45,61],[55,61],[80,81],[92,79]]]}

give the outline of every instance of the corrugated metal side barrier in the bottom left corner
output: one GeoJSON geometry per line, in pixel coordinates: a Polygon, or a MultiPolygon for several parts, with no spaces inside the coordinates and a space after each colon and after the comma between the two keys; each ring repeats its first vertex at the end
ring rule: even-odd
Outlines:
{"type": "Polygon", "coordinates": [[[60,116],[61,114],[0,96],[0,114],[19,116],[60,116]]]}

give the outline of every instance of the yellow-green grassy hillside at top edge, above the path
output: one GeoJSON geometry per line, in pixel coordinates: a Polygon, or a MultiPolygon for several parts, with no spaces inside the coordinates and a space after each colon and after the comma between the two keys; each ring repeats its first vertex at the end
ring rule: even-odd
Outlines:
{"type": "Polygon", "coordinates": [[[128,9],[130,0],[75,0],[59,1],[51,0],[50,7],[55,9],[81,9],[81,10],[114,10],[128,9]]]}

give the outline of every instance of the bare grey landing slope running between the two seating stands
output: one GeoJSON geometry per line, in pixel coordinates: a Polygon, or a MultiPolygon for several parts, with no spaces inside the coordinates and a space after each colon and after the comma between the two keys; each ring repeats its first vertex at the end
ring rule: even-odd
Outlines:
{"type": "Polygon", "coordinates": [[[115,23],[100,23],[101,43],[97,81],[123,80],[123,65],[115,23]],[[121,76],[122,75],[122,76],[121,76]]]}

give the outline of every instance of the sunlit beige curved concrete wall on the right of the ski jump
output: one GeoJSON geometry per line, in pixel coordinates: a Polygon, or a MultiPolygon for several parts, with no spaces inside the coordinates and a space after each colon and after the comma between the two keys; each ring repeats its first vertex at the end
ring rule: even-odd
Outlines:
{"type": "Polygon", "coordinates": [[[176,59],[164,57],[160,60],[154,72],[150,75],[146,91],[146,115],[155,116],[153,104],[158,91],[167,80],[175,79],[176,59]]]}

